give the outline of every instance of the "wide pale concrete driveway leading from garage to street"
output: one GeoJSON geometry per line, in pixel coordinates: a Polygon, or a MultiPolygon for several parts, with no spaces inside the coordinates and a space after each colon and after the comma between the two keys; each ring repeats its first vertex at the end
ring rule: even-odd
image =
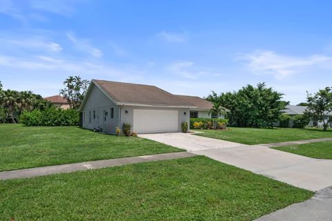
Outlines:
{"type": "Polygon", "coordinates": [[[317,160],[269,148],[244,145],[188,133],[139,135],[156,142],[205,155],[303,189],[318,191],[332,185],[332,160],[317,160]]]}

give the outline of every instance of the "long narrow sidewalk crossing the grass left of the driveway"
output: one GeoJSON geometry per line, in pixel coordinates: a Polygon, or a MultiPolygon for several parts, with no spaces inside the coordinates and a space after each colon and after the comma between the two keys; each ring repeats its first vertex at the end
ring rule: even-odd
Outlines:
{"type": "Polygon", "coordinates": [[[55,173],[71,173],[74,171],[101,169],[109,166],[122,166],[126,164],[136,164],[141,162],[151,162],[157,160],[172,160],[172,159],[192,157],[192,156],[194,156],[194,154],[189,152],[162,153],[156,155],[125,157],[125,158],[118,158],[111,160],[97,160],[97,161],[81,162],[75,164],[62,164],[57,166],[43,166],[31,169],[22,169],[17,171],[3,171],[0,172],[0,180],[35,177],[39,175],[50,175],[55,173]]]}

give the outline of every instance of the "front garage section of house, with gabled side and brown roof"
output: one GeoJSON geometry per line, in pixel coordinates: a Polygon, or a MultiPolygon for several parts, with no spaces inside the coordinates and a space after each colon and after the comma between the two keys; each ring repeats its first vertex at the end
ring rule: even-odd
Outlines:
{"type": "Polygon", "coordinates": [[[93,79],[80,108],[80,126],[110,134],[124,123],[135,133],[181,132],[181,124],[190,122],[190,108],[196,106],[156,86],[93,79]]]}

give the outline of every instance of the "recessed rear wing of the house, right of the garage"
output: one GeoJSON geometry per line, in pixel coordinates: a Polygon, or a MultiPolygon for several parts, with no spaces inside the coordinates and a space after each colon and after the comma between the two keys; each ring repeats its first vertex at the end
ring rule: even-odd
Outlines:
{"type": "MultiPolygon", "coordinates": [[[[181,99],[185,100],[186,102],[190,102],[191,104],[194,104],[194,106],[196,106],[196,108],[190,108],[190,117],[216,118],[216,115],[213,114],[209,115],[209,112],[213,107],[212,102],[209,102],[206,99],[196,96],[187,96],[187,95],[176,95],[176,96],[181,97],[181,99]]],[[[227,109],[225,110],[228,111],[227,109]]],[[[219,118],[224,118],[224,116],[220,116],[219,118]]]]}

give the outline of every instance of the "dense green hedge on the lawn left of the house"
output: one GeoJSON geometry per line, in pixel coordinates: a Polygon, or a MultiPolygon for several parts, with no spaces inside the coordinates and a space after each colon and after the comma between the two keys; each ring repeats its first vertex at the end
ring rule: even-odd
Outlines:
{"type": "Polygon", "coordinates": [[[26,126],[78,126],[79,113],[73,109],[47,108],[44,111],[24,111],[21,124],[26,126]]]}

